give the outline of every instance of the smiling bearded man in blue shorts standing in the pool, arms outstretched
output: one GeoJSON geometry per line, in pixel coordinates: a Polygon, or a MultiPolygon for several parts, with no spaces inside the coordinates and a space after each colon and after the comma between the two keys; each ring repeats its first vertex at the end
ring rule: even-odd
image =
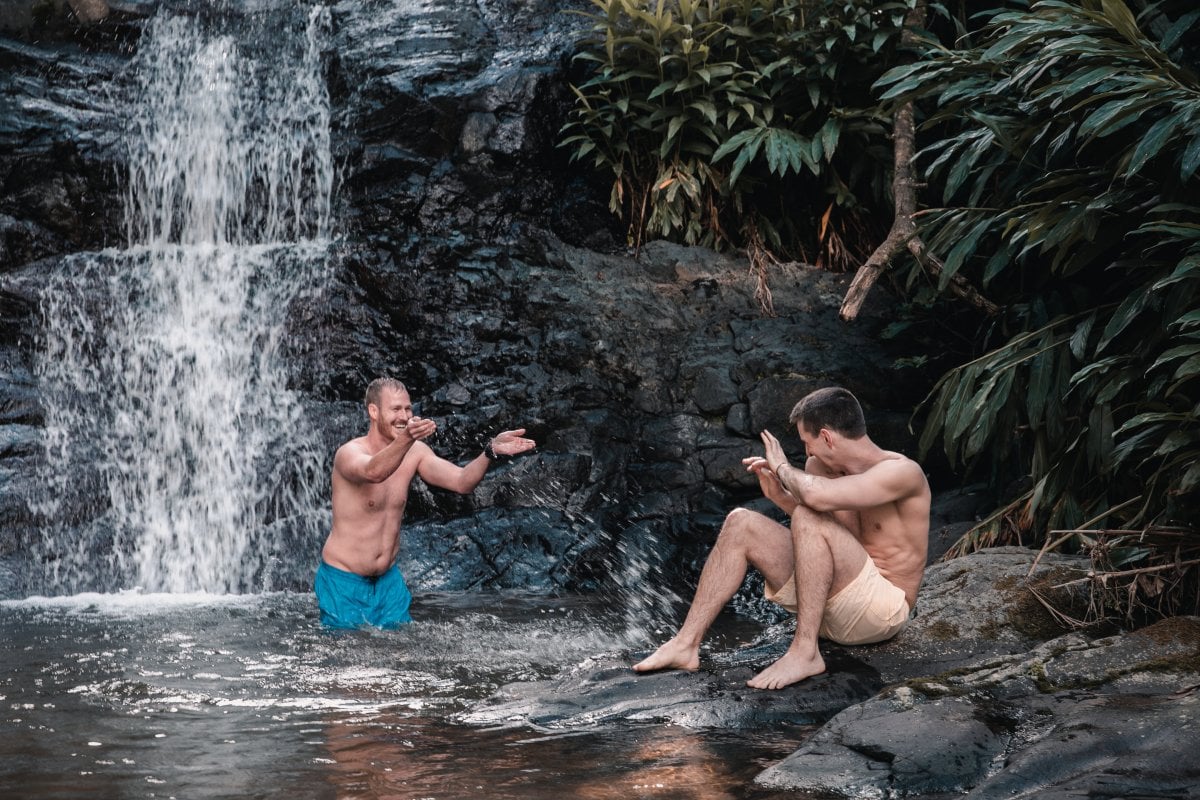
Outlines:
{"type": "Polygon", "coordinates": [[[505,431],[484,452],[458,467],[422,441],[437,423],[413,414],[404,384],[377,378],[367,386],[365,437],[334,456],[334,525],[322,551],[313,589],[320,620],[332,627],[392,627],[412,621],[412,595],[396,566],[408,488],[418,475],[451,492],[472,492],[497,456],[534,447],[524,429],[505,431]]]}

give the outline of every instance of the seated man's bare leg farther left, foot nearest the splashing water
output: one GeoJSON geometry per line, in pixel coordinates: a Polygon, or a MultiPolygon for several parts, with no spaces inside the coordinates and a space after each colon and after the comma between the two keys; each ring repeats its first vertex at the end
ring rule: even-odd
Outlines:
{"type": "Polygon", "coordinates": [[[769,517],[737,509],[721,525],[679,632],[649,657],[634,664],[634,670],[698,669],[700,643],[704,633],[742,587],[751,565],[763,573],[768,584],[780,587],[786,583],[792,573],[791,534],[769,517]]]}

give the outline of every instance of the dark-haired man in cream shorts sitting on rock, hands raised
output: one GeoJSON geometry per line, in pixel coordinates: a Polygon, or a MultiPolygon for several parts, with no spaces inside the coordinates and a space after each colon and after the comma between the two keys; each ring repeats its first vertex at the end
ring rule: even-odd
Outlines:
{"type": "Polygon", "coordinates": [[[635,670],[697,669],[704,632],[751,565],[766,581],[767,599],[796,614],[787,652],[748,681],[755,688],[781,688],[823,673],[817,637],[870,644],[907,622],[929,545],[924,471],[871,441],[863,409],[845,389],[805,396],[788,422],[808,452],[803,470],[787,463],[768,431],[762,432],[766,457],[743,463],[763,495],[791,517],[791,529],[748,509],[732,511],[679,632],[635,670]]]}

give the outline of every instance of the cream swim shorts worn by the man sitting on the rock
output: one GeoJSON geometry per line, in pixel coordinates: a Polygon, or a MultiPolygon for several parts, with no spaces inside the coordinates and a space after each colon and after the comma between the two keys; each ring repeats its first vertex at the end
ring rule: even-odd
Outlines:
{"type": "MultiPolygon", "coordinates": [[[[775,594],[764,589],[763,596],[794,614],[796,576],[775,594]]],[[[904,628],[908,612],[904,589],[888,583],[875,561],[866,559],[858,577],[826,602],[818,636],[838,644],[883,642],[904,628]]]]}

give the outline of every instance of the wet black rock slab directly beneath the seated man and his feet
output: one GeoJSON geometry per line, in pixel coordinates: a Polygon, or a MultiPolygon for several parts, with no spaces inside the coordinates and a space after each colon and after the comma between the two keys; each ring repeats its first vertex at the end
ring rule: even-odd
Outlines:
{"type": "MultiPolygon", "coordinates": [[[[914,616],[899,636],[857,648],[824,643],[828,670],[779,692],[750,690],[745,681],[782,655],[794,621],[769,626],[756,642],[732,651],[702,650],[701,670],[695,674],[638,675],[629,664],[647,652],[629,652],[577,667],[551,681],[505,686],[464,718],[558,727],[587,720],[659,720],[736,728],[761,724],[773,715],[776,721],[796,724],[824,722],[884,686],[1021,656],[1061,634],[1062,628],[1031,588],[1061,604],[1073,602],[1070,593],[1050,587],[1066,576],[1084,575],[1085,563],[1050,555],[1031,571],[1034,557],[1022,548],[995,548],[932,565],[914,616]],[[701,699],[709,708],[697,710],[701,699]]],[[[654,620],[667,630],[679,621],[654,620]]]]}

